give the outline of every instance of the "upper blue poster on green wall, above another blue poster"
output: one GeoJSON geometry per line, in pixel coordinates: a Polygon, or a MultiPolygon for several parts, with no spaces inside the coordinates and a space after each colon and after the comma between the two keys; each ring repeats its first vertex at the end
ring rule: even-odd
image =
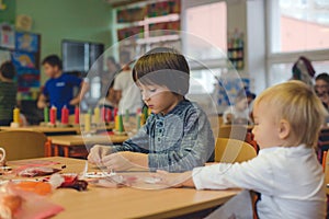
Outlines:
{"type": "Polygon", "coordinates": [[[38,35],[16,32],[15,47],[16,50],[36,53],[38,50],[38,35]]]}

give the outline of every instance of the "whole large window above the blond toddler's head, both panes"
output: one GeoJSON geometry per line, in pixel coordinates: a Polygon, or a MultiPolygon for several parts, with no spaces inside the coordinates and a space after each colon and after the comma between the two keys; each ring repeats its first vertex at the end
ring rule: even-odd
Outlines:
{"type": "Polygon", "coordinates": [[[311,60],[316,74],[328,72],[329,1],[269,0],[266,2],[268,85],[292,78],[292,67],[299,56],[311,60]]]}

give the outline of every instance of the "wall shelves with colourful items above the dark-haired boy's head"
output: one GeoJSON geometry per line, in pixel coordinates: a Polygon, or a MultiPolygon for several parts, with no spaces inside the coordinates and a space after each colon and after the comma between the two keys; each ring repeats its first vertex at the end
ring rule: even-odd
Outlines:
{"type": "Polygon", "coordinates": [[[177,33],[181,28],[180,12],[180,0],[145,1],[118,8],[114,27],[117,36],[115,41],[123,41],[120,50],[129,51],[131,57],[134,57],[155,46],[169,43],[180,46],[181,38],[177,33]],[[128,37],[129,41],[124,41],[128,37]]]}

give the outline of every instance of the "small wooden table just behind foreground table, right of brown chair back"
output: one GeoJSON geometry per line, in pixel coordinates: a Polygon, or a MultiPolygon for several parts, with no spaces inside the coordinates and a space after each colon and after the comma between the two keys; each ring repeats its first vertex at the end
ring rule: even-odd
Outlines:
{"type": "Polygon", "coordinates": [[[81,157],[88,153],[87,146],[91,147],[97,143],[122,143],[127,140],[128,136],[116,136],[116,135],[95,135],[95,136],[81,136],[81,135],[69,135],[69,136],[49,136],[48,142],[46,143],[46,157],[59,155],[59,148],[64,150],[64,157],[70,157],[72,149],[82,149],[81,157]],[[54,147],[54,153],[52,151],[54,147]]]}

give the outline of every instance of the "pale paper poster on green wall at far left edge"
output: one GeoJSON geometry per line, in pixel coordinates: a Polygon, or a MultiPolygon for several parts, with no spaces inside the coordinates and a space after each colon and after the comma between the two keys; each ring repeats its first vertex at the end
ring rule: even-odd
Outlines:
{"type": "Polygon", "coordinates": [[[8,23],[0,24],[0,47],[15,48],[15,31],[13,25],[8,23]]]}

